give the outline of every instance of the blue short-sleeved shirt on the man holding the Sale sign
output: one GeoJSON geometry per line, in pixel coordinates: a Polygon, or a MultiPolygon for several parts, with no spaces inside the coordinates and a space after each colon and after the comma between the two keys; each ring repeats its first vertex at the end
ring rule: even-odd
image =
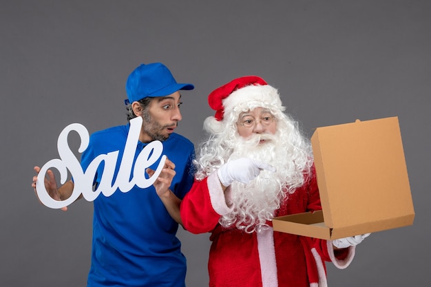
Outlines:
{"type": "MultiPolygon", "coordinates": [[[[96,156],[119,150],[117,173],[128,131],[129,125],[123,125],[92,134],[81,157],[83,170],[96,156]]],[[[171,134],[162,143],[163,154],[176,164],[171,191],[182,199],[193,183],[193,144],[179,134],[171,134]]],[[[144,147],[138,142],[135,160],[144,147]]],[[[151,168],[157,166],[158,162],[151,168]]],[[[96,184],[102,172],[103,164],[98,168],[96,184]]],[[[135,186],[127,193],[117,189],[109,197],[101,193],[94,200],[92,265],[87,286],[185,286],[186,259],[180,251],[177,230],[178,223],[152,185],[147,189],[135,186]]]]}

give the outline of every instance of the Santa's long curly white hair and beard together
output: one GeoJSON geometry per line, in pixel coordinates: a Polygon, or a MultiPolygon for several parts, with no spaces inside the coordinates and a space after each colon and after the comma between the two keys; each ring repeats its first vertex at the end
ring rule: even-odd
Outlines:
{"type": "MultiPolygon", "coordinates": [[[[277,93],[276,89],[274,91],[277,93]]],[[[280,202],[301,187],[311,172],[311,144],[302,136],[298,123],[283,111],[281,101],[269,103],[256,98],[235,102],[235,107],[225,109],[222,121],[212,116],[204,121],[204,129],[210,136],[200,145],[198,160],[195,160],[196,180],[203,180],[217,171],[222,164],[244,156],[263,160],[277,168],[275,173],[262,171],[260,176],[249,184],[231,184],[234,209],[220,217],[222,226],[235,224],[237,228],[248,233],[264,228],[267,226],[266,220],[272,220],[274,211],[280,208],[280,202]],[[242,112],[256,107],[271,111],[275,117],[277,131],[274,135],[261,134],[244,139],[238,134],[238,117],[242,112]],[[262,137],[268,140],[264,145],[258,145],[262,137]]]]}

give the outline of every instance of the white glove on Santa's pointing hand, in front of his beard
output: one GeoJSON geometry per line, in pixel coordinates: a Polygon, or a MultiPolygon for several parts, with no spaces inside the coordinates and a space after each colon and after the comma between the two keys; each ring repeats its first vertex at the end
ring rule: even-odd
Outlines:
{"type": "Polygon", "coordinates": [[[252,160],[251,158],[238,158],[238,160],[231,160],[223,164],[218,169],[217,174],[224,187],[229,187],[234,180],[249,183],[256,176],[259,176],[262,169],[275,171],[275,167],[266,162],[252,160]]]}

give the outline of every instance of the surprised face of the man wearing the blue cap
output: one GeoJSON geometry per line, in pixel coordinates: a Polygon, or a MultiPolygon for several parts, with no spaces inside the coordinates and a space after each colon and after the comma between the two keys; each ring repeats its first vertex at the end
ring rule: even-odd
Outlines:
{"type": "Polygon", "coordinates": [[[180,113],[180,92],[169,96],[156,97],[151,100],[146,112],[143,113],[143,142],[167,140],[182,119],[180,113]]]}

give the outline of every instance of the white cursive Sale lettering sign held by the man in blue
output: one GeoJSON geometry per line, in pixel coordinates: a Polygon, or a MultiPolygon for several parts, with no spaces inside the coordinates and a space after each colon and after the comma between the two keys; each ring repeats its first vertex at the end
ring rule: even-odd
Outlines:
{"type": "Polygon", "coordinates": [[[84,172],[79,160],[70,150],[69,143],[67,142],[67,136],[70,131],[76,131],[78,133],[81,138],[81,145],[78,148],[78,152],[83,153],[83,151],[85,151],[89,145],[90,135],[87,129],[78,123],[74,123],[65,127],[65,129],[61,131],[57,141],[57,149],[59,151],[60,158],[55,158],[46,162],[37,176],[36,192],[39,196],[39,200],[41,200],[45,206],[48,206],[52,209],[61,209],[72,204],[76,199],[78,199],[81,193],[83,194],[83,198],[85,198],[85,200],[93,201],[98,197],[98,195],[100,195],[100,193],[103,193],[105,196],[109,196],[112,195],[117,189],[123,193],[126,193],[127,191],[130,191],[135,185],[142,189],[151,186],[151,184],[153,184],[160,175],[163,166],[165,165],[166,156],[162,156],[162,142],[158,140],[149,142],[149,144],[145,146],[142,151],[140,151],[138,157],[136,158],[132,175],[132,165],[134,162],[136,145],[138,144],[142,123],[143,119],[141,117],[136,117],[130,120],[129,134],[127,135],[123,157],[121,158],[120,168],[118,169],[118,175],[116,176],[114,184],[112,184],[112,179],[114,178],[119,151],[112,151],[110,153],[97,156],[94,158],[94,160],[92,160],[84,172]],[[160,162],[154,175],[146,178],[145,169],[157,162],[159,158],[160,162]],[[101,162],[104,163],[101,182],[99,182],[96,190],[93,190],[94,176],[101,162]],[[52,168],[59,171],[61,184],[64,184],[67,180],[67,170],[70,171],[72,175],[74,180],[74,189],[72,195],[70,195],[70,198],[67,198],[67,200],[54,200],[45,189],[44,180],[46,172],[48,169],[52,168]]]}

